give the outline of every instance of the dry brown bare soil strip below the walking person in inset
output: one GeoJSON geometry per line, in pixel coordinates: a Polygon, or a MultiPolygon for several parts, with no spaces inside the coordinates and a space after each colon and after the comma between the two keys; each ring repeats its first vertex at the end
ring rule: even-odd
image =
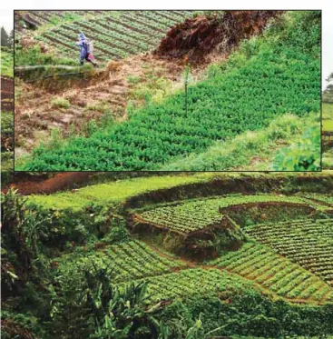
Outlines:
{"type": "Polygon", "coordinates": [[[99,121],[104,115],[103,110],[98,108],[101,104],[108,105],[114,121],[126,120],[126,106],[132,89],[128,78],[138,76],[144,82],[147,69],[152,72],[158,70],[159,75],[177,82],[183,65],[166,62],[150,54],[134,55],[111,62],[93,84],[77,84],[55,94],[34,84],[21,82],[17,85],[21,95],[15,100],[16,155],[30,153],[36,145],[47,143],[53,129],[60,130],[63,137],[71,133],[83,135],[89,121],[99,121]],[[70,107],[53,107],[51,102],[56,97],[67,99],[70,107]]]}

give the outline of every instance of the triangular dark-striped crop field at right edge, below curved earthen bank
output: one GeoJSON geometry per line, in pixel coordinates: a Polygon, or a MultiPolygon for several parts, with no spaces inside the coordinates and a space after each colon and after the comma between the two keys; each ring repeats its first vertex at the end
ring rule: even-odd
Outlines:
{"type": "Polygon", "coordinates": [[[333,284],[333,220],[257,224],[245,232],[333,284]]]}

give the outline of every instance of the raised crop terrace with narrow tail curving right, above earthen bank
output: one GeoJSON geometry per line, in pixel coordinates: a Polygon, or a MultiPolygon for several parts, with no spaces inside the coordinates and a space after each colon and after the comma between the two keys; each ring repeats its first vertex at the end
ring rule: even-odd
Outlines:
{"type": "Polygon", "coordinates": [[[228,208],[238,204],[275,202],[307,204],[305,199],[298,196],[274,194],[230,195],[157,207],[142,212],[140,216],[147,223],[189,234],[212,224],[219,223],[222,219],[222,214],[219,212],[220,208],[228,208]]]}

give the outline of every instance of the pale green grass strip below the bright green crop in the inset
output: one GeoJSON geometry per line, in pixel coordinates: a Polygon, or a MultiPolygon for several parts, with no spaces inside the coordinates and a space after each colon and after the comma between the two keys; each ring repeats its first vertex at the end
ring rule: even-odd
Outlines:
{"type": "MultiPolygon", "coordinates": [[[[272,170],[273,156],[279,149],[292,145],[309,127],[319,126],[318,114],[299,119],[296,115],[282,115],[258,132],[246,132],[224,142],[216,142],[207,152],[189,155],[164,165],[162,171],[214,171],[256,169],[272,170]]],[[[320,155],[318,154],[318,157],[320,155]]]]}

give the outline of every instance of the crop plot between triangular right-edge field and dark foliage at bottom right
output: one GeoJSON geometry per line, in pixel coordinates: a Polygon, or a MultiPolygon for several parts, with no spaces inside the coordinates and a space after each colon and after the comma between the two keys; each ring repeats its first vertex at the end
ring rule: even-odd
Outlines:
{"type": "Polygon", "coordinates": [[[210,264],[240,274],[282,297],[333,301],[333,290],[328,284],[260,244],[244,244],[240,250],[221,255],[210,264]]]}

